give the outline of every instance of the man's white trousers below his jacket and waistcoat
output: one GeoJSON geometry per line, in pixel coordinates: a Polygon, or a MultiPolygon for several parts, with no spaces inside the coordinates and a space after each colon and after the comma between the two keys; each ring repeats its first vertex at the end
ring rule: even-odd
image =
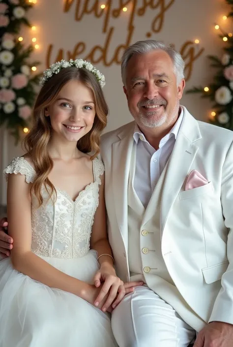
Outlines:
{"type": "Polygon", "coordinates": [[[195,330],[151,289],[135,287],[112,313],[119,347],[187,347],[195,330]]]}

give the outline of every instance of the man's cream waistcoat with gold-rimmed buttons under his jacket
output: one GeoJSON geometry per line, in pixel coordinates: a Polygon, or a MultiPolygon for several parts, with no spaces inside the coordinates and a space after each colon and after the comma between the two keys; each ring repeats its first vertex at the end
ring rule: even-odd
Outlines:
{"type": "Polygon", "coordinates": [[[128,259],[130,281],[144,281],[195,330],[203,320],[196,315],[177,290],[161,252],[160,201],[168,162],[160,175],[146,209],[133,187],[136,165],[136,143],[131,155],[128,181],[128,259]],[[153,209],[152,218],[144,222],[146,211],[153,209]]]}

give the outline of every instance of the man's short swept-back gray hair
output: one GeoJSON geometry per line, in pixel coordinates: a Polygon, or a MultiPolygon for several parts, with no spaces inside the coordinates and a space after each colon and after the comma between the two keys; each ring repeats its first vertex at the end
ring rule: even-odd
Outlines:
{"type": "Polygon", "coordinates": [[[135,54],[146,54],[155,50],[162,50],[168,53],[174,63],[174,73],[176,75],[177,85],[184,78],[184,66],[185,63],[181,55],[174,49],[172,45],[165,45],[163,42],[156,40],[144,40],[137,41],[133,45],[129,46],[121,59],[121,78],[123,85],[126,86],[126,69],[130,58],[135,54]]]}

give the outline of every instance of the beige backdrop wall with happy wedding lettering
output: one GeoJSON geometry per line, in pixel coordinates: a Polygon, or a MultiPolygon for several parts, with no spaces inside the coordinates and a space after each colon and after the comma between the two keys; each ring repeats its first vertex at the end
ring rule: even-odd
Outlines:
{"type": "MultiPolygon", "coordinates": [[[[106,131],[132,120],[122,90],[120,57],[126,45],[146,38],[173,43],[185,57],[186,89],[206,85],[213,71],[206,56],[220,54],[221,41],[214,22],[226,14],[223,0],[37,0],[29,12],[36,31],[22,32],[25,44],[37,38],[39,49],[33,58],[41,62],[37,71],[59,58],[85,58],[106,76],[104,93],[110,108],[106,131]],[[106,4],[101,9],[101,4],[106,4]],[[127,7],[127,11],[122,11],[127,7]],[[87,13],[89,12],[89,13],[87,13]],[[199,39],[200,43],[193,43],[199,39]]],[[[206,121],[211,111],[208,100],[198,95],[184,95],[185,105],[195,118],[206,121]]],[[[2,139],[2,134],[1,134],[2,139]]],[[[21,156],[7,136],[3,164],[21,156]]],[[[2,158],[1,158],[2,159],[2,158]]],[[[2,169],[2,168],[1,168],[2,169]]],[[[1,170],[2,171],[2,170],[1,170]]],[[[1,177],[1,204],[6,204],[5,182],[1,177]]]]}

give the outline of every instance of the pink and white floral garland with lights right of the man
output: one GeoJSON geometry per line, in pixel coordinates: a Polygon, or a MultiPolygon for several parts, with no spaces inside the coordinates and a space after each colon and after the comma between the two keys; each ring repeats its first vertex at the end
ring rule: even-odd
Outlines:
{"type": "MultiPolygon", "coordinates": [[[[233,0],[226,0],[232,6],[228,18],[233,18],[233,0]]],[[[219,26],[218,26],[219,28],[219,26]]],[[[219,35],[226,42],[225,53],[219,59],[208,56],[210,66],[217,68],[213,83],[207,88],[194,87],[187,93],[200,93],[202,97],[209,98],[213,102],[210,123],[233,130],[233,35],[221,30],[219,35]]]]}

